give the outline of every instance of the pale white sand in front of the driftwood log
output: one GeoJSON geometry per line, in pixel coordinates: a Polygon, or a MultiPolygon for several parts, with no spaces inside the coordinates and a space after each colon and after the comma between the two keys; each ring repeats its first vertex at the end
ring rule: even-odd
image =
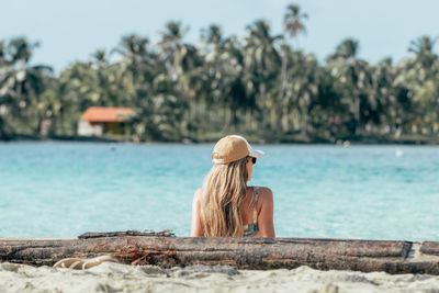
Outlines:
{"type": "Polygon", "coordinates": [[[1,292],[439,292],[439,277],[383,272],[160,269],[104,262],[85,271],[0,263],[1,292]]]}

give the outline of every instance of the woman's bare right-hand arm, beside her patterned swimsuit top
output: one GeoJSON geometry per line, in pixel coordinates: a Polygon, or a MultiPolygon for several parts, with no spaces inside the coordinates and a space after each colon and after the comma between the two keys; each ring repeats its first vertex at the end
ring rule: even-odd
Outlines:
{"type": "Polygon", "coordinates": [[[261,188],[259,202],[260,212],[258,215],[259,233],[257,237],[275,237],[273,224],[273,193],[269,188],[261,188]]]}

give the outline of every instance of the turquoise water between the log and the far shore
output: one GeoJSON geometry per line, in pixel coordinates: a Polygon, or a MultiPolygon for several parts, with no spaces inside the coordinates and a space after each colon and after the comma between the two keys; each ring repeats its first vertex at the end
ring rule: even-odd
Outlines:
{"type": "MultiPolygon", "coordinates": [[[[212,145],[0,144],[0,236],[190,232],[212,145]]],[[[263,145],[280,237],[439,240],[439,148],[263,145]]]]}

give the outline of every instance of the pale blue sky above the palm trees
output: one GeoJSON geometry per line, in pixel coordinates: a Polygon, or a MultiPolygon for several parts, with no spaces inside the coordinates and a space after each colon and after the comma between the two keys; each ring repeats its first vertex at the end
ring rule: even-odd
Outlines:
{"type": "Polygon", "coordinates": [[[157,42],[170,20],[190,27],[187,42],[196,42],[212,23],[226,36],[244,36],[246,26],[260,19],[280,34],[291,3],[308,14],[306,35],[292,44],[319,60],[353,37],[360,58],[397,63],[409,56],[410,41],[439,35],[438,0],[0,0],[0,41],[26,36],[40,42],[32,64],[60,70],[89,60],[97,49],[111,50],[126,34],[157,42]]]}

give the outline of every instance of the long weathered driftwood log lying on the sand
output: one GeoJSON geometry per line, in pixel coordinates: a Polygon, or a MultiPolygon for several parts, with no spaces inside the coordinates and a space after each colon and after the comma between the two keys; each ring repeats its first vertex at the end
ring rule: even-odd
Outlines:
{"type": "Polygon", "coordinates": [[[439,274],[439,243],[191,238],[169,232],[83,234],[79,238],[0,238],[0,262],[53,266],[64,258],[115,257],[122,263],[169,268],[227,264],[239,269],[385,271],[439,274]]]}

